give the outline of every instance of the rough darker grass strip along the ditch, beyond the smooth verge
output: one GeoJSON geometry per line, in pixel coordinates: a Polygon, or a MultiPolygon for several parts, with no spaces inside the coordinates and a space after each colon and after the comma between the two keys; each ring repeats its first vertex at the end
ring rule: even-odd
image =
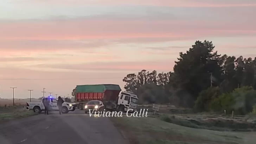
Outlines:
{"type": "MultiPolygon", "coordinates": [[[[140,106],[153,112],[152,107],[140,106]]],[[[219,131],[256,131],[256,117],[234,116],[218,113],[194,113],[191,109],[161,106],[156,116],[159,119],[169,117],[169,122],[198,129],[219,131]]]]}

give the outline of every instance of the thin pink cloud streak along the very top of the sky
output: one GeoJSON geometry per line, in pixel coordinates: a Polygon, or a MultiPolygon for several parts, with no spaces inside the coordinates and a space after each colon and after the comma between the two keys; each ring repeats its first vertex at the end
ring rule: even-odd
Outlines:
{"type": "Polygon", "coordinates": [[[191,2],[190,0],[31,0],[34,4],[55,4],[55,5],[149,5],[149,6],[169,6],[169,7],[249,7],[256,6],[256,3],[241,1],[241,2],[213,2],[210,0],[195,0],[191,2]]]}

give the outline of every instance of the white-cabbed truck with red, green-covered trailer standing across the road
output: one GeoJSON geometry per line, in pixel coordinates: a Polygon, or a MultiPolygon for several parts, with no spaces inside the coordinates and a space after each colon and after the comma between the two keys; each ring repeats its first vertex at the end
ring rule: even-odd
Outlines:
{"type": "MultiPolygon", "coordinates": [[[[137,110],[138,97],[133,92],[121,91],[116,84],[77,85],[75,88],[78,109],[88,112],[91,101],[97,103],[93,109],[107,111],[137,110]],[[89,102],[89,104],[88,104],[89,102]]],[[[73,90],[74,91],[74,90],[73,90]]]]}

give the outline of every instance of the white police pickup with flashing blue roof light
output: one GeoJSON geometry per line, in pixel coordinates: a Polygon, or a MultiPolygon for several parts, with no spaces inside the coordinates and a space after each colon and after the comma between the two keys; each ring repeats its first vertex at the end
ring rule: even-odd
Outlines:
{"type": "MultiPolygon", "coordinates": [[[[46,97],[46,98],[42,98],[41,102],[27,102],[27,110],[33,110],[34,112],[38,112],[41,113],[42,111],[45,110],[44,104],[43,104],[43,100],[44,99],[50,99],[50,107],[49,110],[55,110],[58,111],[59,108],[57,106],[57,99],[54,97],[46,97]]],[[[75,111],[75,107],[73,106],[72,103],[66,103],[64,102],[62,104],[62,112],[63,113],[68,113],[69,111],[75,111]]]]}

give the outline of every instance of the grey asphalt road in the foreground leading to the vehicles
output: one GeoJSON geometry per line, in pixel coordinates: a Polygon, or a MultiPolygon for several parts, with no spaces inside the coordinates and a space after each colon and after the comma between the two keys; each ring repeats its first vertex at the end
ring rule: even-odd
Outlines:
{"type": "Polygon", "coordinates": [[[0,125],[0,144],[127,144],[107,117],[76,110],[39,114],[0,125]]]}

